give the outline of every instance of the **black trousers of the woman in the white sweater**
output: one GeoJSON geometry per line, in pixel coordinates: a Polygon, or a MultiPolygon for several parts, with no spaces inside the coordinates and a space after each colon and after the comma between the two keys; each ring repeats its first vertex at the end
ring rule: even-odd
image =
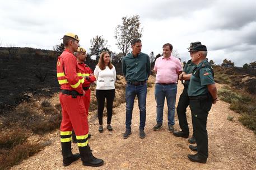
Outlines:
{"type": "Polygon", "coordinates": [[[106,111],[108,113],[107,124],[111,124],[112,114],[113,114],[113,102],[115,98],[115,89],[96,89],[97,98],[97,114],[99,119],[99,124],[103,124],[103,110],[106,98],[106,111]]]}

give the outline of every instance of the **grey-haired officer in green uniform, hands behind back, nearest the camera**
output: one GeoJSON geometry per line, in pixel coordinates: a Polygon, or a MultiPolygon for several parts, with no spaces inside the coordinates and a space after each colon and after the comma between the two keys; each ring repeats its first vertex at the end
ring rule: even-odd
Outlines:
{"type": "Polygon", "coordinates": [[[189,52],[192,54],[192,62],[197,65],[188,86],[189,107],[197,146],[190,145],[189,148],[197,151],[197,154],[189,154],[188,158],[193,162],[206,163],[208,158],[206,123],[212,104],[217,102],[217,88],[213,80],[213,69],[206,59],[206,46],[195,45],[189,52]]]}

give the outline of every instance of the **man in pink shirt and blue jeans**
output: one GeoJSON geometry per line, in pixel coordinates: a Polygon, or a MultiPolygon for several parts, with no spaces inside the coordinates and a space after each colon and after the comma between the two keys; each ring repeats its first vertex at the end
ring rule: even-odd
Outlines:
{"type": "Polygon", "coordinates": [[[153,130],[162,128],[162,115],[164,111],[165,97],[168,106],[168,131],[173,133],[175,124],[175,101],[177,94],[177,82],[183,68],[180,60],[171,56],[173,45],[166,43],[162,46],[163,56],[156,59],[154,71],[156,72],[156,125],[153,130]]]}

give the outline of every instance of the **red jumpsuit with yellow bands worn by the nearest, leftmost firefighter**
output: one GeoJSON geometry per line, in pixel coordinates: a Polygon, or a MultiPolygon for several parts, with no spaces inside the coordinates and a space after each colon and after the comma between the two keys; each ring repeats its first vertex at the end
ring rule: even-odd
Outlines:
{"type": "MultiPolygon", "coordinates": [[[[65,49],[57,61],[57,78],[61,89],[83,93],[81,70],[78,68],[75,55],[65,49]]],[[[60,125],[60,141],[70,142],[72,129],[76,133],[78,147],[86,147],[88,144],[88,120],[83,96],[72,98],[71,95],[59,93],[59,101],[62,106],[62,122],[60,125]],[[86,120],[86,122],[85,122],[86,120]]]]}

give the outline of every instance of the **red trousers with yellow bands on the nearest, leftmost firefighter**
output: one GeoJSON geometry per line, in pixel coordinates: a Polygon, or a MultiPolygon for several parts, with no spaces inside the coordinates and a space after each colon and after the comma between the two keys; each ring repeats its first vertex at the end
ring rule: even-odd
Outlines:
{"type": "Polygon", "coordinates": [[[83,96],[72,98],[70,95],[59,93],[59,101],[62,106],[62,122],[60,125],[60,141],[71,141],[72,129],[76,133],[78,147],[86,147],[88,144],[88,120],[83,96]]]}

